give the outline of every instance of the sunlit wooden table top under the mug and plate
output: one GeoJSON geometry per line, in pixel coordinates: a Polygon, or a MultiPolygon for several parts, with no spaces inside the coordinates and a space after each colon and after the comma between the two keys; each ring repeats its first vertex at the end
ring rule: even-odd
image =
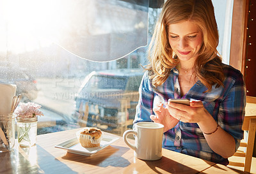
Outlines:
{"type": "MultiPolygon", "coordinates": [[[[36,145],[0,153],[0,173],[204,173],[215,163],[163,149],[157,161],[134,157],[120,137],[91,157],[67,153],[54,145],[76,136],[77,129],[37,136],[36,145]]],[[[104,133],[108,134],[108,133],[104,133]]],[[[115,136],[110,134],[111,136],[115,136]]],[[[222,166],[222,165],[221,165],[222,166]]],[[[227,168],[223,166],[223,168],[227,168]]],[[[232,170],[229,169],[228,170],[232,170]]]]}

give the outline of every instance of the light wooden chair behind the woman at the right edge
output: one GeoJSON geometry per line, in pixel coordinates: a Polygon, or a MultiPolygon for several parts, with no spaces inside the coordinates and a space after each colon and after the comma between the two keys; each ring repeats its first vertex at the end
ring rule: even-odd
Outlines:
{"type": "MultiPolygon", "coordinates": [[[[230,163],[228,167],[250,172],[252,166],[253,146],[256,130],[256,98],[246,96],[245,117],[242,129],[244,130],[244,139],[234,156],[228,158],[230,163]]],[[[255,166],[253,166],[255,167],[255,166]]]]}

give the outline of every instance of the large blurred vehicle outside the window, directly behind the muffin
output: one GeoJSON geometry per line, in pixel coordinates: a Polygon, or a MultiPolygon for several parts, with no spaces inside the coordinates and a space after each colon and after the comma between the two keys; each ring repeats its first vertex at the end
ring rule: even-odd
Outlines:
{"type": "Polygon", "coordinates": [[[122,134],[131,128],[142,76],[142,69],[93,71],[77,91],[72,116],[81,127],[122,134]]]}

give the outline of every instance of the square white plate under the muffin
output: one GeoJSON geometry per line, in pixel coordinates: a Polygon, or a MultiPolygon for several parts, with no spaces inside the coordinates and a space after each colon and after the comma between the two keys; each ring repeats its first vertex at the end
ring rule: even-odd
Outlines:
{"type": "Polygon", "coordinates": [[[67,150],[67,152],[73,154],[79,154],[83,156],[92,156],[96,152],[108,147],[111,143],[118,140],[119,137],[116,136],[107,136],[103,135],[102,140],[100,141],[100,147],[82,147],[81,144],[78,142],[77,138],[72,138],[70,140],[64,141],[54,147],[67,150]]]}

